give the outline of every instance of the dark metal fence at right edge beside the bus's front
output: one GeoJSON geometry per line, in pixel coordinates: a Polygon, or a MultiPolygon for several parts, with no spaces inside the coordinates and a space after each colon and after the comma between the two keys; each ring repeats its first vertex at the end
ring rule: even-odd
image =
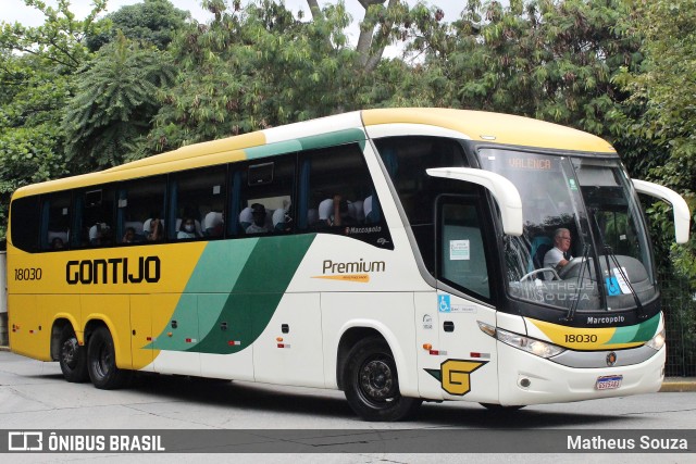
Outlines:
{"type": "Polygon", "coordinates": [[[688,281],[660,279],[667,329],[668,377],[696,377],[696,294],[688,281]]]}

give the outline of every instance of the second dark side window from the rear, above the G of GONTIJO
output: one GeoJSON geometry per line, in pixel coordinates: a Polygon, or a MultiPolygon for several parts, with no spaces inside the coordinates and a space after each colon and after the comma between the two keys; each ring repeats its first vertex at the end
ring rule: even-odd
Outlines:
{"type": "MultiPolygon", "coordinates": [[[[71,229],[71,192],[52,193],[41,200],[41,250],[62,250],[69,247],[71,229]]],[[[16,222],[13,220],[13,224],[16,222]]]]}

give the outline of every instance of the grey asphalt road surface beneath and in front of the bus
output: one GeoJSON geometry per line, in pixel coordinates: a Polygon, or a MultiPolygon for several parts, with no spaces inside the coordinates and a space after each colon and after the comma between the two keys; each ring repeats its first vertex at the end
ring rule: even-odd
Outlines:
{"type": "MultiPolygon", "coordinates": [[[[235,429],[355,430],[372,436],[388,431],[504,430],[538,431],[542,439],[556,429],[695,430],[696,393],[661,392],[638,397],[527,406],[513,414],[495,414],[478,404],[425,403],[415,421],[365,423],[349,409],[343,392],[251,383],[215,383],[186,377],[141,375],[123,390],[104,391],[90,384],[63,380],[58,363],[41,363],[0,352],[0,429],[235,429]]],[[[599,430],[599,431],[598,431],[599,430]]],[[[604,431],[602,431],[604,430],[604,431]]],[[[473,431],[472,431],[473,432],[473,431]]],[[[535,434],[534,436],[537,436],[535,434]]],[[[4,438],[3,438],[4,439],[4,438]]],[[[366,441],[370,441],[368,439],[366,441]]],[[[388,447],[387,447],[388,448],[388,447]]],[[[689,442],[689,449],[696,443],[689,442]]],[[[272,448],[269,449],[273,451],[272,448]]],[[[587,462],[577,452],[470,454],[467,462],[587,462]]],[[[498,451],[498,450],[492,450],[498,451]]],[[[12,462],[461,462],[462,454],[12,454],[12,462]],[[262,456],[262,457],[261,457],[262,456]]],[[[694,462],[694,454],[593,454],[596,462],[694,462]]],[[[0,456],[0,460],[2,456],[0,456]]],[[[4,461],[4,460],[2,460],[4,461]]],[[[4,461],[8,462],[8,461],[4,461]]]]}

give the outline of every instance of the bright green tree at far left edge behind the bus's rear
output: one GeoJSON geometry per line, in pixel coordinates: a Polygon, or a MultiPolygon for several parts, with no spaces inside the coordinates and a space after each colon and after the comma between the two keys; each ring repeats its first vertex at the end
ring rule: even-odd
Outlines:
{"type": "Polygon", "coordinates": [[[0,27],[0,237],[10,196],[23,185],[67,174],[64,137],[58,128],[73,87],[73,73],[89,59],[83,46],[105,0],[76,20],[67,0],[55,8],[25,0],[45,16],[39,27],[0,27]]]}

